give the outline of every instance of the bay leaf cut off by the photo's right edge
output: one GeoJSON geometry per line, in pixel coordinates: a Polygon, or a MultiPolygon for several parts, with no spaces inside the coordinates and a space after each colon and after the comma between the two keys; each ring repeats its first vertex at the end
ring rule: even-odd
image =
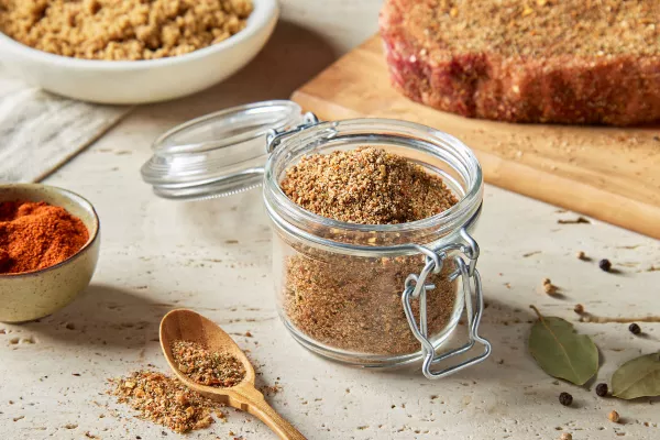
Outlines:
{"type": "Polygon", "coordinates": [[[619,366],[612,375],[612,395],[623,399],[660,396],[660,352],[619,366]]]}

